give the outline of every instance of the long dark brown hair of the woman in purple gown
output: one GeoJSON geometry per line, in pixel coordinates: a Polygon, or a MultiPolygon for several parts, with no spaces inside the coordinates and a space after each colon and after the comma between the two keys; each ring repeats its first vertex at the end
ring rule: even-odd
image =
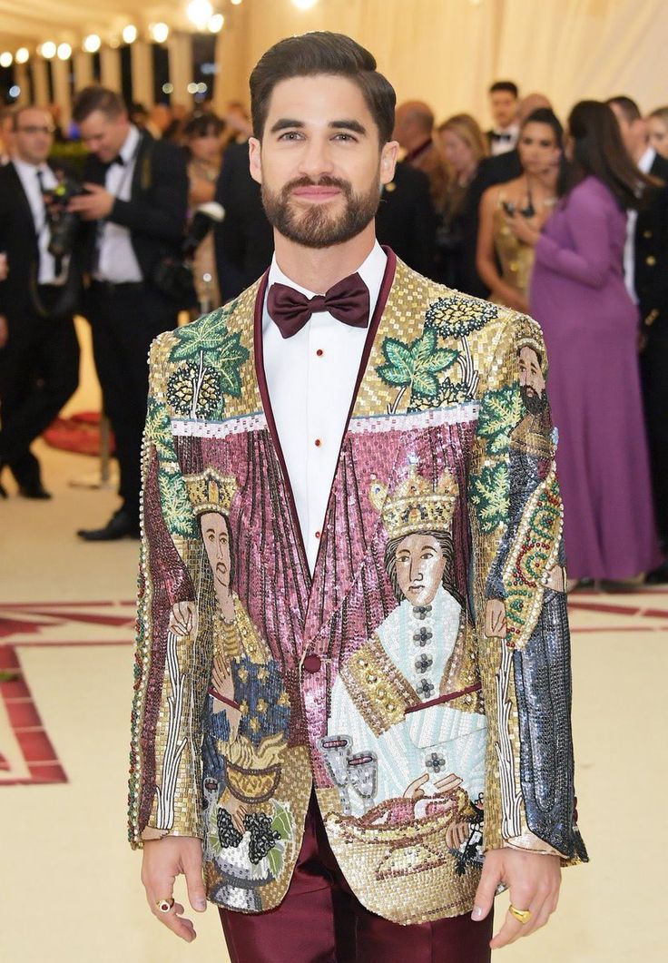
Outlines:
{"type": "Polygon", "coordinates": [[[643,187],[655,186],[633,163],[617,117],[600,100],[580,100],[568,118],[573,139],[571,189],[591,175],[603,181],[623,210],[637,208],[643,187]]]}

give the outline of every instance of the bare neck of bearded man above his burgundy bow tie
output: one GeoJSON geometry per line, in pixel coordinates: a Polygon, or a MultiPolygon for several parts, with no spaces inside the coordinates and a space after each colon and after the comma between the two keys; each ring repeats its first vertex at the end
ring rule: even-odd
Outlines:
{"type": "Polygon", "coordinates": [[[273,243],[281,271],[300,287],[323,295],[369,257],[375,244],[375,221],[354,238],[332,247],[304,247],[275,229],[273,243]]]}

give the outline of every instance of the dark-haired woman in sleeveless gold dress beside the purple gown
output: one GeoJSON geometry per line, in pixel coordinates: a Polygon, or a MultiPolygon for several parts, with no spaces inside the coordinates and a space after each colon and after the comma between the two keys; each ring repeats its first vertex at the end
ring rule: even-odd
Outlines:
{"type": "Polygon", "coordinates": [[[480,201],[477,272],[490,289],[490,300],[524,313],[533,247],[518,236],[516,216],[537,237],[552,214],[563,188],[562,138],[561,124],[549,108],[529,114],[517,144],[522,175],[488,188],[480,201]]]}

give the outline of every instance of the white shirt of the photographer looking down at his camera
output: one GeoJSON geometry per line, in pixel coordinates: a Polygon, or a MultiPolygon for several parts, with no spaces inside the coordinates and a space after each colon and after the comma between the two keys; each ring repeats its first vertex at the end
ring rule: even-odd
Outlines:
{"type": "MultiPolygon", "coordinates": [[[[107,170],[104,186],[120,200],[130,200],[132,178],[135,173],[137,148],[140,143],[140,132],[131,126],[125,142],[118,151],[123,164],[112,164],[107,170]]],[[[141,268],[130,240],[127,227],[112,221],[103,221],[97,235],[98,257],[95,278],[98,281],[113,281],[115,284],[127,284],[131,281],[141,281],[141,268]]]]}

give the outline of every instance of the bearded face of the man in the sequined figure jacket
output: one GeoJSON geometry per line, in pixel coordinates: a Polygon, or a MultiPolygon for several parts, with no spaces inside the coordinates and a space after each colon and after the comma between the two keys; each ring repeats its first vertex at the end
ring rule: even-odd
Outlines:
{"type": "Polygon", "coordinates": [[[270,223],[303,247],[343,244],[373,221],[398,150],[379,146],[359,88],[330,75],[277,84],[262,141],[249,143],[270,223]]]}

